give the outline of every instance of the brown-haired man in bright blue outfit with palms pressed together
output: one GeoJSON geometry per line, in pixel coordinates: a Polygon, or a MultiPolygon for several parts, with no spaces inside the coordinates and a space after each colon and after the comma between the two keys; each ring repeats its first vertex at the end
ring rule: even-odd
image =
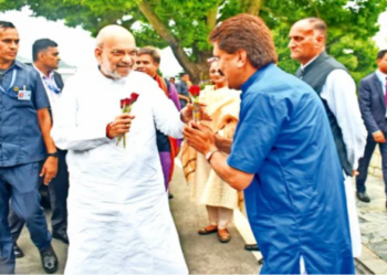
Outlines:
{"type": "Polygon", "coordinates": [[[244,190],[261,274],[354,274],[344,179],[321,100],[275,66],[261,19],[228,19],[210,41],[230,88],[242,89],[240,120],[231,152],[231,141],[201,124],[185,136],[226,182],[244,190]]]}

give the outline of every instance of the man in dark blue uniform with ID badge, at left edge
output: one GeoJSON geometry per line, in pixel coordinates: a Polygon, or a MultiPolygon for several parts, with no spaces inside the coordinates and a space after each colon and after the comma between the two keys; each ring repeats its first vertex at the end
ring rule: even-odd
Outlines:
{"type": "Polygon", "coordinates": [[[44,270],[54,273],[57,258],[38,191],[40,177],[44,176],[48,184],[57,171],[56,148],[50,137],[50,104],[39,74],[15,61],[18,50],[17,29],[0,21],[0,274],[14,273],[10,200],[18,216],[27,222],[44,270]],[[43,164],[45,149],[49,157],[43,164]]]}

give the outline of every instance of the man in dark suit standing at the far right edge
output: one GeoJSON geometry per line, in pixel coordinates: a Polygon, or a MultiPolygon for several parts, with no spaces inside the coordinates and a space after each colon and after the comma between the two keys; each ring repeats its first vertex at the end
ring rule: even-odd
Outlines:
{"type": "MultiPolygon", "coordinates": [[[[366,193],[367,170],[376,144],[381,153],[383,177],[387,194],[387,50],[377,54],[378,68],[362,79],[359,86],[359,104],[364,123],[368,130],[367,146],[359,162],[359,176],[356,179],[356,195],[360,201],[369,202],[366,193]]],[[[387,208],[387,201],[386,201],[387,208]]]]}

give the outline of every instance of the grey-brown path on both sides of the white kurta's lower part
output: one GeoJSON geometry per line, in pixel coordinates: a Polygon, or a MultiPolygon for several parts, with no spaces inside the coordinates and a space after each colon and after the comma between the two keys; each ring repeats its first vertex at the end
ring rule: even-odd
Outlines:
{"type": "MultiPolygon", "coordinates": [[[[171,212],[179,233],[181,247],[190,274],[248,274],[259,273],[259,265],[253,254],[243,250],[244,241],[236,230],[229,229],[231,241],[221,244],[217,235],[199,236],[197,231],[207,225],[205,208],[197,208],[189,201],[189,187],[178,168],[171,182],[175,199],[170,201],[171,212]]],[[[49,213],[48,213],[49,215],[49,213]]],[[[40,264],[38,250],[33,246],[24,229],[18,242],[25,256],[17,259],[17,274],[45,274],[40,264]]],[[[53,247],[60,259],[56,274],[63,274],[67,246],[53,240],[53,247]]]]}

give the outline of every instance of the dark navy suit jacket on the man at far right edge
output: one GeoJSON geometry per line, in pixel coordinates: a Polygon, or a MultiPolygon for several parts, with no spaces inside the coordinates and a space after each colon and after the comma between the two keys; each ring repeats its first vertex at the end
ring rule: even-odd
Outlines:
{"type": "Polygon", "coordinates": [[[375,73],[360,81],[359,105],[368,134],[387,132],[385,95],[375,73]]]}

